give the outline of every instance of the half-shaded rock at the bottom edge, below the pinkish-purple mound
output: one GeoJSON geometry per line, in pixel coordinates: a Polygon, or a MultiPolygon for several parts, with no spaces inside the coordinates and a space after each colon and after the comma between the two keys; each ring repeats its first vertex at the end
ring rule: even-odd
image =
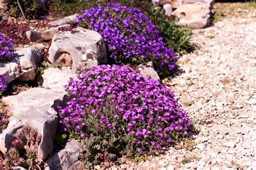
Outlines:
{"type": "Polygon", "coordinates": [[[68,141],[62,150],[54,153],[45,161],[44,169],[83,169],[83,162],[78,160],[79,153],[82,151],[81,143],[68,141]]]}

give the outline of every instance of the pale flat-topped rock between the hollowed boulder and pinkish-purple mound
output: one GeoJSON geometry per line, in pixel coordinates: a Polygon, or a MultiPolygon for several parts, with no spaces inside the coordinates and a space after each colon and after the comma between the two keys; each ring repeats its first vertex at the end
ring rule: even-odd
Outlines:
{"type": "Polygon", "coordinates": [[[42,77],[44,88],[57,93],[65,93],[64,85],[68,84],[70,77],[76,78],[77,75],[68,68],[49,68],[44,70],[42,77]]]}

